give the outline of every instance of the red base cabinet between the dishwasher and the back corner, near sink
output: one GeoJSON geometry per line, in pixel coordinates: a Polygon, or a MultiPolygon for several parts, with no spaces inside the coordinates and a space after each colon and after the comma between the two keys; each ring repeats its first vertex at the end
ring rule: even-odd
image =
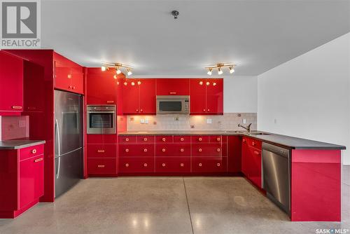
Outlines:
{"type": "Polygon", "coordinates": [[[261,144],[256,139],[243,137],[241,146],[241,171],[259,188],[262,188],[261,144]]]}

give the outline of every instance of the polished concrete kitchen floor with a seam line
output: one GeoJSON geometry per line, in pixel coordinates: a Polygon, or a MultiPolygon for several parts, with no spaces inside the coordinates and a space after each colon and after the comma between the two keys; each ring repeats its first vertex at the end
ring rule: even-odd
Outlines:
{"type": "Polygon", "coordinates": [[[0,233],[316,233],[317,228],[350,229],[349,182],[350,167],[346,167],[341,223],[292,223],[244,178],[86,179],[55,203],[41,203],[17,219],[0,220],[0,233]]]}

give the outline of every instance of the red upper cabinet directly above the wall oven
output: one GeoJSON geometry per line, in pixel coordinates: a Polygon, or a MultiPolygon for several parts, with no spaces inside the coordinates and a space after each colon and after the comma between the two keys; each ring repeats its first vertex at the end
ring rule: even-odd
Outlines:
{"type": "Polygon", "coordinates": [[[87,68],[87,104],[116,104],[116,85],[122,84],[120,78],[113,78],[115,74],[113,69],[101,71],[99,67],[87,68]]]}

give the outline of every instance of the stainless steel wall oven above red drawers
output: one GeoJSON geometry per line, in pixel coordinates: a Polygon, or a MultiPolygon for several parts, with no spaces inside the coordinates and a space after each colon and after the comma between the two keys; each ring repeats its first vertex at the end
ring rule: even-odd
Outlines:
{"type": "Polygon", "coordinates": [[[87,105],[87,134],[116,134],[116,105],[87,105]]]}

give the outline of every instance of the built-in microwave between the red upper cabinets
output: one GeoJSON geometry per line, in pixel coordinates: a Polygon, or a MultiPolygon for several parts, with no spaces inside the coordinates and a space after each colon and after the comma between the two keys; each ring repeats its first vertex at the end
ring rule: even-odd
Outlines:
{"type": "Polygon", "coordinates": [[[157,113],[190,113],[190,96],[158,95],[157,113]]]}

